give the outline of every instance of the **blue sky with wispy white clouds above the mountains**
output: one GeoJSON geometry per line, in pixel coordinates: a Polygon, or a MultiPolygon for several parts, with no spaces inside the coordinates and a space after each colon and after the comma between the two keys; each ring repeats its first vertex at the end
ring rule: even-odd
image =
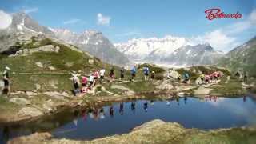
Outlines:
{"type": "Polygon", "coordinates": [[[1,0],[0,10],[6,13],[26,10],[40,24],[52,28],[78,33],[99,30],[112,42],[172,35],[206,38],[211,45],[225,51],[256,35],[256,0],[1,0]],[[204,11],[214,7],[226,14],[238,11],[242,18],[209,21],[204,11]],[[249,21],[250,26],[241,28],[249,21]],[[238,32],[233,33],[232,29],[238,32]],[[229,44],[218,46],[219,39],[210,37],[221,37],[229,44]]]}

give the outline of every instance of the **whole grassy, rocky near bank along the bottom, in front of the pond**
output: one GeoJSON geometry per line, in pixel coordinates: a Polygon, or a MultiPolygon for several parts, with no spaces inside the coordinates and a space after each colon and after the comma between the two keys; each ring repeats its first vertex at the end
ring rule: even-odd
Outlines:
{"type": "Polygon", "coordinates": [[[49,133],[35,133],[30,136],[14,138],[10,144],[52,143],[52,144],[151,144],[151,143],[254,143],[256,142],[255,128],[234,128],[203,131],[185,129],[176,122],[153,120],[135,127],[130,133],[97,138],[92,141],[56,139],[49,133]],[[234,139],[235,138],[235,139],[234,139]]]}

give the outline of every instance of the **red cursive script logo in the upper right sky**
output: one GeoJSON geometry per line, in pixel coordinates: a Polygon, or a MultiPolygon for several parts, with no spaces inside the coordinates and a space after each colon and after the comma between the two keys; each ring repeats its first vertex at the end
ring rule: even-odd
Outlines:
{"type": "Polygon", "coordinates": [[[238,19],[238,18],[242,18],[242,14],[239,14],[239,12],[235,13],[235,14],[225,14],[224,12],[222,12],[221,9],[219,8],[214,8],[214,9],[208,9],[205,11],[206,13],[206,18],[211,20],[214,19],[221,19],[221,18],[234,18],[234,19],[238,19]]]}

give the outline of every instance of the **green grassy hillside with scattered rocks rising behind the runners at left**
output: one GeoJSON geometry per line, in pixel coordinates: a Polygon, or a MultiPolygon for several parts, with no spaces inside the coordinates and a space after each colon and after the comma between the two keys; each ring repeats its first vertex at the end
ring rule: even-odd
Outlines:
{"type": "Polygon", "coordinates": [[[56,42],[50,38],[32,37],[29,42],[17,42],[12,49],[0,54],[0,71],[5,66],[11,69],[10,78],[12,82],[12,90],[35,90],[36,85],[40,85],[40,90],[72,90],[70,81],[70,72],[77,71],[79,74],[90,74],[97,69],[106,69],[106,75],[110,69],[114,67],[117,74],[120,68],[102,62],[98,58],[94,58],[86,54],[74,46],[70,46],[61,42],[56,42]],[[40,46],[58,46],[59,51],[43,52],[39,51],[26,56],[18,55],[8,57],[9,54],[15,54],[15,51],[25,49],[36,49],[40,46]],[[73,49],[71,48],[73,47],[73,49]],[[39,62],[42,66],[38,66],[39,62]]]}

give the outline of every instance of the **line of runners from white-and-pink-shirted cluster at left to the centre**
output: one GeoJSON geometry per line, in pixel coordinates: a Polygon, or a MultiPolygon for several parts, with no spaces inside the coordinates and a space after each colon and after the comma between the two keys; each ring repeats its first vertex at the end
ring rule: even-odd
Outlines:
{"type": "MultiPolygon", "coordinates": [[[[77,94],[85,94],[88,90],[91,90],[93,86],[95,86],[98,83],[102,83],[103,79],[105,77],[105,72],[106,70],[103,68],[102,70],[94,70],[94,72],[91,72],[89,74],[89,77],[85,75],[82,75],[82,87],[80,86],[80,80],[79,80],[79,74],[72,74],[72,81],[74,85],[74,95],[77,94]]],[[[130,70],[131,78],[130,81],[134,82],[134,78],[136,77],[137,74],[137,67],[134,66],[130,70]]],[[[143,67],[143,74],[144,74],[144,80],[149,80],[149,75],[150,78],[153,80],[155,72],[151,71],[150,73],[150,68],[148,66],[143,67]]],[[[114,68],[110,70],[110,82],[112,82],[115,79],[115,72],[114,68]]],[[[125,68],[122,67],[120,70],[120,79],[123,80],[125,78],[125,68]]]]}

